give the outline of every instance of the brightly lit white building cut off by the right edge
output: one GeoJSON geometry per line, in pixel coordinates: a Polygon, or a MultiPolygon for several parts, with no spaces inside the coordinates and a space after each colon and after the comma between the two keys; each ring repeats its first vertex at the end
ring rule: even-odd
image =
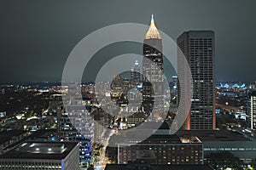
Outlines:
{"type": "Polygon", "coordinates": [[[256,90],[250,91],[247,97],[247,117],[249,127],[256,128],[256,90]]]}

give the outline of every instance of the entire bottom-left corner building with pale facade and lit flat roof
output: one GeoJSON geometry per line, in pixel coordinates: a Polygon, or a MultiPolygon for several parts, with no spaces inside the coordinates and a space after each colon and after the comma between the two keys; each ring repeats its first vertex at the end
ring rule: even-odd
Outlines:
{"type": "Polygon", "coordinates": [[[0,169],[79,169],[77,143],[25,141],[0,156],[0,169]]]}

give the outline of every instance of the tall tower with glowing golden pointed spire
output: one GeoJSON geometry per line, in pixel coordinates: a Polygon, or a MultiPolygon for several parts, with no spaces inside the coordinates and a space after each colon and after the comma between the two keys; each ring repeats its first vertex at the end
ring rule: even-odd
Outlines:
{"type": "Polygon", "coordinates": [[[162,39],[154,24],[152,14],[143,44],[143,111],[146,114],[151,114],[154,107],[156,109],[155,114],[152,115],[154,118],[157,118],[157,112],[163,111],[164,108],[162,75],[164,69],[161,52],[162,39]],[[156,103],[158,105],[155,105],[156,103]]]}

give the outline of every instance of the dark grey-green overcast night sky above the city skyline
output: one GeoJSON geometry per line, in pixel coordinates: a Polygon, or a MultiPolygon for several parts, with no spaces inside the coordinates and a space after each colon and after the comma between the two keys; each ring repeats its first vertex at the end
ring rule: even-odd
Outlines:
{"type": "MultiPolygon", "coordinates": [[[[85,36],[118,23],[149,25],[151,14],[156,26],[174,40],[183,31],[215,31],[217,81],[253,82],[255,8],[255,0],[1,0],[0,82],[61,81],[68,55],[85,36]]],[[[91,74],[85,81],[93,81],[108,59],[126,53],[142,54],[142,45],[102,49],[86,67],[91,74]]]]}

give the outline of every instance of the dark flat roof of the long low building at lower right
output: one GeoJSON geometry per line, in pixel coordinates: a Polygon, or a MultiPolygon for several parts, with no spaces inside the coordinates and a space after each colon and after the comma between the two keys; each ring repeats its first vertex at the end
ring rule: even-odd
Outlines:
{"type": "Polygon", "coordinates": [[[202,142],[207,141],[250,141],[241,133],[231,130],[179,130],[177,136],[196,136],[202,142]]]}

